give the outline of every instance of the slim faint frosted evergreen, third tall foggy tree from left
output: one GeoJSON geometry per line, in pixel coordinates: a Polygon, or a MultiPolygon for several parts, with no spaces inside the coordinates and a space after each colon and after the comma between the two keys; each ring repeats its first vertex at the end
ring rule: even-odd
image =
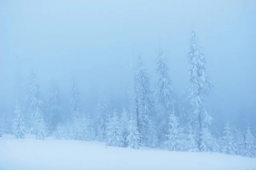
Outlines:
{"type": "Polygon", "coordinates": [[[78,90],[78,85],[75,80],[75,77],[72,77],[70,110],[71,110],[73,119],[79,118],[81,116],[79,90],[78,90]]]}

